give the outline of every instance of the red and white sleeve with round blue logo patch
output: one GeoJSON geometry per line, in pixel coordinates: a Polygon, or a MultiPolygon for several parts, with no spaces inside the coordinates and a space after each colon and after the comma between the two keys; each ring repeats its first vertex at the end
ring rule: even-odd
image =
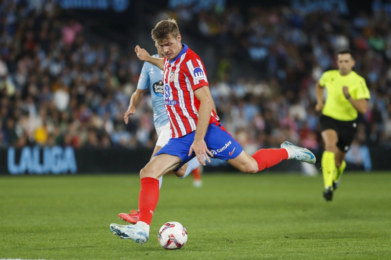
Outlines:
{"type": "Polygon", "coordinates": [[[193,91],[203,86],[209,87],[204,63],[198,57],[193,57],[186,62],[184,73],[189,78],[193,91]]]}

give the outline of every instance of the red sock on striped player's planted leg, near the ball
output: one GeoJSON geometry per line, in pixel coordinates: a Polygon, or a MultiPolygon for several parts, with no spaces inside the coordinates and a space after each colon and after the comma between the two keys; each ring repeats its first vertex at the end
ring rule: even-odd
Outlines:
{"type": "Polygon", "coordinates": [[[141,190],[138,196],[139,221],[151,225],[153,211],[159,200],[159,180],[151,177],[141,179],[141,190]]]}

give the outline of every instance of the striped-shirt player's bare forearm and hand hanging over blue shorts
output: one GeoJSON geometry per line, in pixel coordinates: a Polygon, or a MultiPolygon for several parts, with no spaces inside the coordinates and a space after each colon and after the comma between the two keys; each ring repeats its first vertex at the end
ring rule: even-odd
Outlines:
{"type": "Polygon", "coordinates": [[[198,122],[197,129],[195,129],[195,137],[192,146],[190,146],[189,156],[194,151],[195,156],[197,157],[199,163],[202,165],[206,165],[204,155],[208,162],[211,162],[208,155],[213,157],[211,151],[208,150],[206,146],[204,137],[206,131],[208,130],[209,121],[211,118],[213,100],[211,93],[209,91],[209,87],[203,86],[194,91],[195,97],[200,101],[199,109],[198,109],[198,122]]]}

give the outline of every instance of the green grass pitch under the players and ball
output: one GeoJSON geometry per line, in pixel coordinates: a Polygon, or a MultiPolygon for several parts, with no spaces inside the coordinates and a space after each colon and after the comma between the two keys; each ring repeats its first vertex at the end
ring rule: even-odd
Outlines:
{"type": "Polygon", "coordinates": [[[138,175],[0,177],[0,259],[390,259],[391,173],[348,172],[332,202],[300,174],[167,176],[150,240],[120,240],[109,224],[136,209],[138,175]],[[164,250],[167,221],[188,230],[164,250]]]}

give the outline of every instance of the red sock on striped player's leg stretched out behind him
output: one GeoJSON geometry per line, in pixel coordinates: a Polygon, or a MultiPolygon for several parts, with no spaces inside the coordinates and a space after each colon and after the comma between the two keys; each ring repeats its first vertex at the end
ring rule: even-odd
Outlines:
{"type": "Polygon", "coordinates": [[[258,162],[259,171],[272,167],[282,160],[288,159],[288,152],[284,148],[261,149],[255,152],[252,157],[258,162]]]}

